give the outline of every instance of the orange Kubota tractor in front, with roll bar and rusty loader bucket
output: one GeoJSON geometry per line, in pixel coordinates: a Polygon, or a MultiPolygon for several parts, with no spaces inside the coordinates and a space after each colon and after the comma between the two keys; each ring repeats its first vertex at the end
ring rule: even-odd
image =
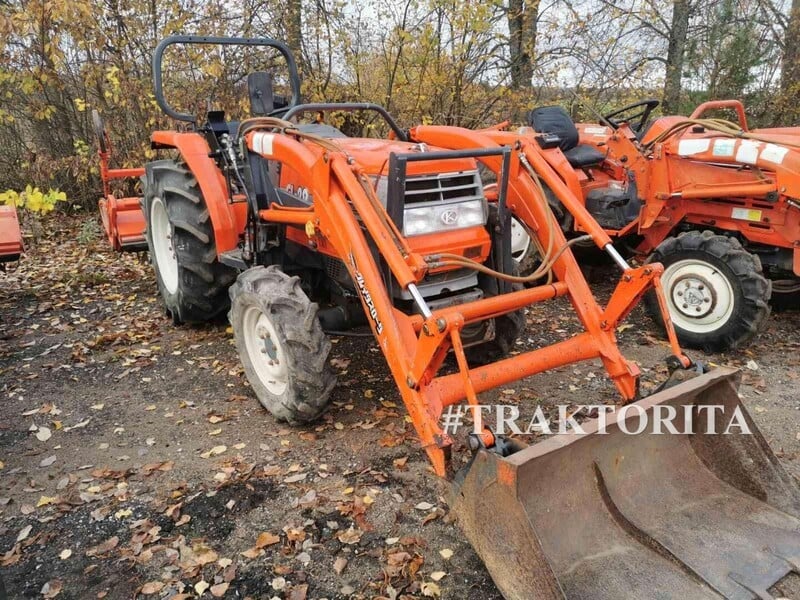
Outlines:
{"type": "MultiPolygon", "coordinates": [[[[407,131],[373,104],[301,104],[294,59],[276,40],[167,38],[153,72],[159,105],[189,124],[154,132],[153,148],[178,158],[145,165],[146,239],[167,310],[178,321],[228,311],[255,396],[290,423],[317,417],[334,388],[326,330],[368,324],[505,597],[749,598],[797,569],[800,491],[743,411],[734,372],[696,373],[637,400],[639,370],[615,329],[643,294],[661,296],[663,268],[627,265],[535,142],[407,131]],[[210,111],[201,122],[175,110],[162,92],[163,55],[192,43],[277,50],[290,96],[276,98],[270,74],[255,72],[250,118],[210,111]],[[388,139],[348,137],[323,118],[354,111],[379,114],[388,139]],[[496,180],[492,202],[481,168],[496,180]],[[592,296],[544,186],[623,269],[607,306],[592,296]],[[512,259],[512,218],[541,248],[526,277],[512,259]],[[519,351],[525,309],[559,297],[582,332],[519,351]],[[591,359],[635,410],[609,417],[605,431],[590,421],[533,446],[476,427],[466,436],[472,460],[454,473],[463,462],[452,460],[455,432],[443,417],[479,415],[482,392],[591,359]],[[664,411],[680,412],[681,434],[625,435],[635,413],[664,411]],[[754,435],[708,433],[734,414],[754,435]]],[[[691,367],[663,305],[671,364],[691,367]]]]}

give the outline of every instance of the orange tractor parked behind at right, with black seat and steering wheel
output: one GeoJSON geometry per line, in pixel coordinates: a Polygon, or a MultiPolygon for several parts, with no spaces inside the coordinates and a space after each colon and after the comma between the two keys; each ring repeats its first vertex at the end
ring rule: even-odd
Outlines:
{"type": "MultiPolygon", "coordinates": [[[[736,348],[764,324],[770,296],[800,291],[800,128],[751,131],[738,100],[650,123],[657,105],[577,126],[543,107],[527,133],[609,235],[664,264],[681,342],[736,348]],[[714,109],[738,122],[704,118],[714,109]]],[[[556,210],[566,231],[581,231],[556,210]]]]}

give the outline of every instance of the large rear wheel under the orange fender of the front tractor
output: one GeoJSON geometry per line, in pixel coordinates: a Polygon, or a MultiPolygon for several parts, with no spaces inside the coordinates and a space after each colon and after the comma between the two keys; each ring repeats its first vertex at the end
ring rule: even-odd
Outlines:
{"type": "Polygon", "coordinates": [[[214,228],[192,173],[181,163],[147,165],[142,210],[158,290],[175,323],[202,323],[229,306],[236,271],[217,260],[214,228]]]}

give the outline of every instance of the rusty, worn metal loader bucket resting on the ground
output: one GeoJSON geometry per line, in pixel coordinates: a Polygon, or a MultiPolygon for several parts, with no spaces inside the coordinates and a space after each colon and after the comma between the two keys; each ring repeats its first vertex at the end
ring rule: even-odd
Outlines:
{"type": "Polygon", "coordinates": [[[451,506],[503,595],[771,598],[800,570],[800,490],[737,385],[720,368],[635,403],[648,417],[691,405],[675,421],[685,433],[627,435],[632,409],[605,434],[595,420],[505,458],[478,451],[451,506]],[[737,410],[751,434],[722,433],[737,410]]]}

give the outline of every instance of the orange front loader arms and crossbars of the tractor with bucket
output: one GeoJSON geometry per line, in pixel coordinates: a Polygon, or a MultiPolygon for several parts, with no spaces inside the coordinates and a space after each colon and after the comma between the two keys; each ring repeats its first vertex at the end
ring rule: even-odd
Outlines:
{"type": "MultiPolygon", "coordinates": [[[[412,156],[395,156],[395,164],[414,160],[446,160],[474,157],[492,170],[499,182],[501,223],[506,210],[537,232],[543,245],[562,248],[567,240],[524,165],[543,169],[546,181],[562,194],[576,219],[593,231],[603,248],[610,240],[593,222],[580,202],[558,184],[557,175],[547,168],[533,145],[518,136],[502,132],[473,132],[453,127],[417,127],[410,131],[413,141],[431,146],[452,148],[412,156]],[[513,160],[512,159],[513,156],[513,160]],[[507,192],[503,189],[508,184],[507,192]],[[552,240],[551,240],[552,237],[552,240]]],[[[423,448],[435,472],[448,472],[452,439],[442,430],[440,417],[450,405],[466,400],[478,405],[478,394],[542,371],[573,362],[599,358],[623,400],[638,395],[638,367],[626,360],[616,345],[615,329],[649,289],[660,290],[660,265],[627,268],[605,309],[595,301],[580,268],[567,249],[552,264],[554,280],[531,288],[507,291],[496,296],[430,310],[418,294],[416,285],[425,273],[437,266],[437,257],[421,256],[410,250],[399,234],[391,214],[365,193],[364,173],[345,152],[326,150],[314,153],[302,136],[276,133],[274,129],[250,131],[244,136],[250,151],[268,161],[290,166],[308,185],[313,206],[288,208],[277,203],[260,210],[259,222],[302,228],[308,244],[333,248],[344,259],[351,278],[357,283],[365,313],[398,390],[408,409],[423,448]],[[362,227],[363,224],[363,227],[362,227]],[[393,306],[387,293],[384,273],[373,259],[373,248],[387,265],[397,284],[414,296],[421,314],[406,314],[393,306]],[[470,367],[467,363],[461,331],[465,325],[520,310],[531,304],[566,297],[585,331],[551,346],[530,350],[498,362],[470,367]],[[452,350],[458,371],[439,375],[447,353],[452,350]]],[[[390,171],[391,172],[391,171],[390,171]]],[[[390,180],[402,184],[402,177],[390,180]]],[[[388,194],[392,198],[393,192],[388,194]]],[[[391,203],[390,203],[391,206],[391,203]]],[[[502,227],[502,225],[501,225],[502,227]]],[[[688,359],[678,347],[674,331],[667,329],[673,354],[681,366],[688,359]]],[[[480,439],[486,447],[494,445],[490,433],[480,439]]]]}

